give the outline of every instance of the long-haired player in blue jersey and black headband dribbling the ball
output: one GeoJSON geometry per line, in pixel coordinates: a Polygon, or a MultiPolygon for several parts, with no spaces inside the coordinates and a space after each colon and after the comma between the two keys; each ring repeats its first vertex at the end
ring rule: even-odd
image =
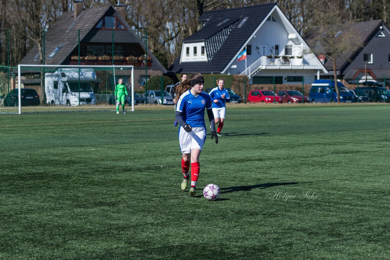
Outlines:
{"type": "Polygon", "coordinates": [[[204,92],[204,79],[202,74],[193,73],[190,78],[183,80],[176,87],[176,120],[179,128],[179,145],[183,154],[181,159],[181,170],[184,179],[181,189],[185,191],[190,179],[189,169],[191,160],[191,187],[190,196],[195,196],[196,183],[198,181],[200,166],[199,156],[206,141],[206,124],[204,122],[204,110],[207,110],[211,126],[211,139],[215,137],[218,143],[218,136],[215,132],[214,115],[211,109],[211,98],[204,92]]]}

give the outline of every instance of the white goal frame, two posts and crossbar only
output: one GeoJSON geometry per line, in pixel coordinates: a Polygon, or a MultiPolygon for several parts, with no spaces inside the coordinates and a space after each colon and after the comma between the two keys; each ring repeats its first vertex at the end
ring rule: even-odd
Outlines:
{"type": "MultiPolygon", "coordinates": [[[[19,114],[21,114],[21,67],[47,67],[47,68],[131,68],[131,111],[134,111],[134,66],[133,65],[37,65],[37,64],[18,64],[18,99],[19,114]]],[[[115,71],[114,71],[115,72],[115,71]]]]}

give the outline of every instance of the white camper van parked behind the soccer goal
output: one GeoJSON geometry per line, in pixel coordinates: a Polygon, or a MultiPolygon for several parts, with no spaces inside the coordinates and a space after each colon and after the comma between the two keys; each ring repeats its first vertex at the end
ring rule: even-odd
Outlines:
{"type": "Polygon", "coordinates": [[[78,68],[59,68],[54,73],[45,73],[46,102],[66,106],[96,104],[91,86],[91,81],[96,81],[95,71],[80,69],[80,84],[78,72],[78,68]]]}

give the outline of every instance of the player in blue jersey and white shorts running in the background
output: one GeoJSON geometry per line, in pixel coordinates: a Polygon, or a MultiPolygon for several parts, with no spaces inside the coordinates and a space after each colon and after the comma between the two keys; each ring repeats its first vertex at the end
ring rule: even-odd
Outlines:
{"type": "Polygon", "coordinates": [[[221,137],[221,130],[223,127],[223,121],[225,121],[226,114],[226,102],[230,102],[229,91],[223,86],[225,85],[225,80],[220,78],[217,80],[218,87],[213,88],[209,95],[213,101],[213,113],[215,124],[218,124],[217,136],[221,137]]]}

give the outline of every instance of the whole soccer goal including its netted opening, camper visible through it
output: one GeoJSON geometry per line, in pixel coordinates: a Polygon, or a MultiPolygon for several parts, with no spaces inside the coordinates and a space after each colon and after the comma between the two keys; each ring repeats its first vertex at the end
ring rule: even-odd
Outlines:
{"type": "MultiPolygon", "coordinates": [[[[4,100],[5,106],[115,105],[119,78],[134,111],[134,66],[130,65],[18,65],[18,88],[4,100]],[[131,93],[129,93],[131,92],[131,93]]],[[[32,108],[29,108],[31,110],[32,108]]],[[[34,109],[32,109],[34,110],[34,109]]]]}

